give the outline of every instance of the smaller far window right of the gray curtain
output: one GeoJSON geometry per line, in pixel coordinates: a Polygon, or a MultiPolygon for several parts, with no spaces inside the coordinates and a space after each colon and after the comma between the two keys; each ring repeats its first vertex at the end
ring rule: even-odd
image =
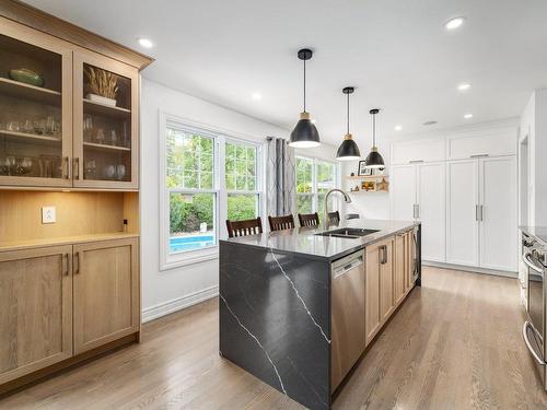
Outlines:
{"type": "MultiPolygon", "coordinates": [[[[323,218],[325,195],[336,188],[337,166],[335,163],[296,156],[296,211],[299,213],[317,212],[323,218]]],[[[336,199],[330,196],[328,209],[334,211],[336,199]]]]}

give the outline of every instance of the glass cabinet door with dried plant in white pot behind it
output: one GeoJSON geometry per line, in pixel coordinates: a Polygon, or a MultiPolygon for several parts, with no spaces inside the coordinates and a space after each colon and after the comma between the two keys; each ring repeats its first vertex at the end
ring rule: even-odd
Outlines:
{"type": "Polygon", "coordinates": [[[138,71],[74,54],[74,187],[138,188],[138,71]]]}

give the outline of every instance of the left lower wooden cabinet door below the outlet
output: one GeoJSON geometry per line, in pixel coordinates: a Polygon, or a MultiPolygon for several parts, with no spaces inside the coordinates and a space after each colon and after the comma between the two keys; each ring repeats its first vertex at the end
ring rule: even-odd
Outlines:
{"type": "Polygon", "coordinates": [[[0,384],[72,355],[72,246],[0,253],[0,384]]]}

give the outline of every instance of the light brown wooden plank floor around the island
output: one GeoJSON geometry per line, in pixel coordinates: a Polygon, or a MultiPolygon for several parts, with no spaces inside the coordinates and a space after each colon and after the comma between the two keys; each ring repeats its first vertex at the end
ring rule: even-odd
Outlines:
{"type": "MultiPolygon", "coordinates": [[[[335,409],[546,409],[513,279],[424,268],[335,409]]],[[[218,354],[218,301],[144,326],[143,342],[0,409],[302,409],[218,354]]]]}

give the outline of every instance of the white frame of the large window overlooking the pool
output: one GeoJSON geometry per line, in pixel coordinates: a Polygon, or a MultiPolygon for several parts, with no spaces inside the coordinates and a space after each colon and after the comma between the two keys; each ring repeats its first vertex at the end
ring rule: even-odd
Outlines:
{"type": "MultiPolygon", "coordinates": [[[[160,153],[160,270],[174,269],[182,266],[198,263],[206,260],[218,259],[219,241],[228,237],[228,230],[222,221],[228,219],[228,195],[245,194],[257,195],[257,214],[263,216],[265,211],[264,203],[264,149],[263,144],[248,136],[237,134],[218,127],[198,124],[179,116],[160,112],[160,132],[159,132],[159,153],[160,153]],[[213,141],[213,188],[212,189],[193,189],[193,188],[167,188],[167,128],[179,129],[184,132],[196,132],[203,137],[211,138],[213,141]],[[225,185],[225,144],[233,142],[245,144],[256,149],[256,185],[255,190],[228,190],[225,185]],[[170,247],[170,194],[214,194],[213,223],[216,244],[198,249],[188,249],[171,254],[170,247]]],[[[264,220],[264,218],[263,218],[264,220]]]]}

